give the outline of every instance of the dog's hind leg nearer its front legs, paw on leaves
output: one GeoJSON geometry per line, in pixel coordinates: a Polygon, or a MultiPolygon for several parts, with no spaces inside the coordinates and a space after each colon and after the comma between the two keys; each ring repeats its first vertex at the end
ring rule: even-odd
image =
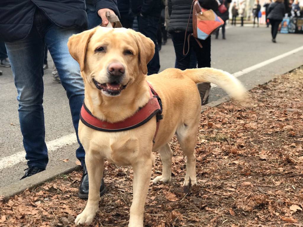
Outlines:
{"type": "Polygon", "coordinates": [[[168,183],[171,179],[171,157],[172,157],[172,150],[169,146],[169,143],[165,144],[159,149],[159,153],[161,156],[162,161],[162,175],[157,176],[151,182],[153,184],[162,181],[163,183],[168,183]]]}

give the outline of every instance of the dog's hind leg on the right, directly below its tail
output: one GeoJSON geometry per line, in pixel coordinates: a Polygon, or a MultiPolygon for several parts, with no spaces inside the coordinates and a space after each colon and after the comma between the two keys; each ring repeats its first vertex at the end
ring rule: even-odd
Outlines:
{"type": "Polygon", "coordinates": [[[196,155],[195,145],[197,143],[197,130],[199,118],[190,125],[182,124],[177,129],[177,138],[180,147],[186,155],[186,175],[184,185],[197,184],[196,178],[196,155]]]}

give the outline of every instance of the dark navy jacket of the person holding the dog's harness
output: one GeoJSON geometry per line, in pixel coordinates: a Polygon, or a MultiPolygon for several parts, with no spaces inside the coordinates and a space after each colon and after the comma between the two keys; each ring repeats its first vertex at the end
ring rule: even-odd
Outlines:
{"type": "MultiPolygon", "coordinates": [[[[55,25],[87,29],[85,0],[0,0],[0,41],[25,39],[31,31],[34,13],[40,8],[55,25]]],[[[119,15],[116,0],[91,0],[96,10],[112,9],[119,15]]]]}

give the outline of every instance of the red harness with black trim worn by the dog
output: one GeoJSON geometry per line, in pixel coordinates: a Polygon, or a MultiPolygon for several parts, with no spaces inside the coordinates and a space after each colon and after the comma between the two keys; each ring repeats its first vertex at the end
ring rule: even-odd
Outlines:
{"type": "Polygon", "coordinates": [[[159,129],[159,121],[163,119],[163,115],[161,114],[162,102],[158,94],[151,86],[151,84],[149,84],[148,82],[147,84],[150,87],[149,90],[150,99],[148,100],[148,103],[144,107],[139,108],[137,112],[131,117],[128,117],[123,121],[119,121],[115,123],[103,121],[92,115],[92,113],[85,106],[85,103],[83,103],[80,112],[80,119],[82,123],[85,124],[87,127],[90,127],[98,131],[119,132],[119,131],[125,131],[125,130],[137,128],[148,122],[152,117],[156,115],[157,127],[153,139],[153,143],[155,143],[155,138],[159,129]]]}

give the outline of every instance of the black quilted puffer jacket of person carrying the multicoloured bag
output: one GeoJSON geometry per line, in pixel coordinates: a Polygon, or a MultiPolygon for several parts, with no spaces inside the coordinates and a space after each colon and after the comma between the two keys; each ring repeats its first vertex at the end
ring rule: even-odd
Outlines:
{"type": "MultiPolygon", "coordinates": [[[[192,0],[168,0],[168,13],[170,15],[168,32],[185,31],[187,27],[188,18],[190,16],[188,32],[192,30],[192,12],[191,11],[192,0]]],[[[218,3],[216,0],[202,0],[199,1],[201,7],[212,9],[216,11],[218,9],[218,3]]]]}

